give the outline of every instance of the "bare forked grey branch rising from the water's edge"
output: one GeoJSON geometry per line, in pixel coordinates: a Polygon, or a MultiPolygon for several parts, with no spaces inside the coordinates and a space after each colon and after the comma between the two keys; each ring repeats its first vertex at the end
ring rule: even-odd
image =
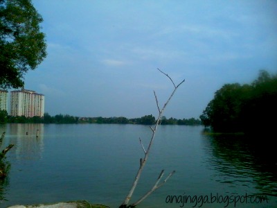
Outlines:
{"type": "MultiPolygon", "coordinates": [[[[150,152],[150,148],[151,148],[151,146],[152,146],[152,144],[153,144],[153,141],[154,141],[155,133],[156,133],[156,131],[157,131],[158,125],[161,124],[161,117],[162,117],[163,111],[166,109],[166,106],[168,105],[168,102],[170,101],[170,99],[172,98],[172,96],[175,94],[175,91],[177,90],[177,88],[178,88],[182,83],[184,83],[184,81],[185,81],[185,80],[181,81],[181,83],[179,83],[179,85],[177,85],[177,87],[176,87],[175,83],[174,83],[173,80],[170,78],[170,76],[168,76],[167,73],[164,73],[164,72],[161,71],[160,69],[158,69],[158,70],[159,70],[161,73],[163,73],[164,75],[166,75],[166,76],[170,79],[170,81],[171,81],[172,84],[174,85],[175,89],[173,90],[173,92],[171,93],[170,97],[168,98],[168,101],[166,101],[166,103],[163,105],[163,108],[162,108],[161,110],[160,110],[160,108],[159,108],[159,103],[158,103],[158,99],[157,99],[156,93],[154,92],[154,96],[155,96],[155,99],[156,99],[157,107],[158,107],[158,110],[159,110],[159,116],[158,116],[158,119],[157,119],[157,121],[156,121],[156,124],[154,125],[154,128],[152,128],[152,127],[150,126],[150,128],[151,128],[151,130],[152,130],[152,137],[151,137],[151,139],[150,139],[150,143],[149,143],[149,145],[148,145],[148,149],[145,151],[145,148],[143,147],[143,151],[144,151],[144,153],[145,153],[144,159],[142,159],[142,158],[140,159],[139,171],[136,173],[136,177],[135,177],[134,182],[133,182],[133,184],[132,184],[132,188],[129,190],[128,195],[126,196],[125,200],[123,201],[123,203],[120,205],[119,208],[126,208],[126,207],[127,207],[127,204],[128,204],[129,200],[131,199],[131,197],[132,197],[132,195],[133,195],[133,193],[134,193],[134,189],[136,189],[136,185],[137,185],[138,182],[139,182],[139,178],[141,177],[141,172],[143,171],[143,167],[145,166],[146,161],[147,161],[147,159],[148,159],[148,155],[149,155],[149,152],[150,152]]],[[[140,139],[140,141],[141,141],[141,139],[140,139]]],[[[141,142],[141,145],[142,145],[142,142],[141,142]]],[[[168,180],[168,178],[169,178],[173,173],[175,173],[175,171],[172,171],[172,172],[170,173],[170,175],[168,175],[168,177],[166,177],[166,180],[168,180]]],[[[153,187],[150,191],[148,191],[148,193],[146,193],[145,196],[143,196],[143,197],[141,198],[141,200],[139,200],[138,202],[134,203],[133,205],[130,205],[129,207],[135,207],[136,205],[139,204],[139,202],[141,202],[141,201],[144,200],[147,196],[149,196],[150,193],[152,193],[154,190],[156,190],[156,189],[158,189],[159,187],[161,187],[161,186],[166,182],[166,180],[164,180],[163,183],[159,184],[159,180],[161,179],[162,176],[163,176],[163,171],[161,171],[161,174],[159,175],[156,184],[154,184],[154,187],[153,187]],[[159,184],[159,185],[158,185],[158,184],[159,184]]]]}

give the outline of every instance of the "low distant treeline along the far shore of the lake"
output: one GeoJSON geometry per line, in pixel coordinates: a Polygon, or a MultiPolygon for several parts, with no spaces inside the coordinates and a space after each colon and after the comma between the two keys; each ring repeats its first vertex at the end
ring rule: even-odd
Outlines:
{"type": "MultiPolygon", "coordinates": [[[[6,112],[3,112],[6,114],[6,112]]],[[[0,117],[3,118],[3,116],[0,117]]],[[[143,124],[143,125],[152,125],[156,122],[154,116],[145,115],[141,118],[127,119],[123,116],[120,117],[78,117],[70,116],[69,114],[57,114],[51,116],[48,113],[44,114],[44,117],[26,117],[26,116],[8,116],[6,114],[6,119],[1,119],[1,123],[117,123],[117,124],[143,124]]],[[[166,116],[163,116],[161,120],[161,125],[201,125],[202,122],[199,119],[166,119],[166,116]]]]}

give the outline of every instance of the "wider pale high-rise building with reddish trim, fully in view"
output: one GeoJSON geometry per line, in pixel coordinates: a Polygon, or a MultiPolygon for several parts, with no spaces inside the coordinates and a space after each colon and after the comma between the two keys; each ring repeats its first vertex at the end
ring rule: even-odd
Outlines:
{"type": "Polygon", "coordinates": [[[27,89],[10,92],[10,115],[44,116],[44,95],[27,89]]]}

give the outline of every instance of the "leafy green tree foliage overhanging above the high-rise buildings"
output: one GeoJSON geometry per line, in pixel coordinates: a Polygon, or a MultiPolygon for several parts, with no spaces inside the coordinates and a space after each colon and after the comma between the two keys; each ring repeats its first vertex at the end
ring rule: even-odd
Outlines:
{"type": "Polygon", "coordinates": [[[31,0],[0,0],[0,87],[24,87],[24,74],[46,57],[43,21],[31,0]]]}

